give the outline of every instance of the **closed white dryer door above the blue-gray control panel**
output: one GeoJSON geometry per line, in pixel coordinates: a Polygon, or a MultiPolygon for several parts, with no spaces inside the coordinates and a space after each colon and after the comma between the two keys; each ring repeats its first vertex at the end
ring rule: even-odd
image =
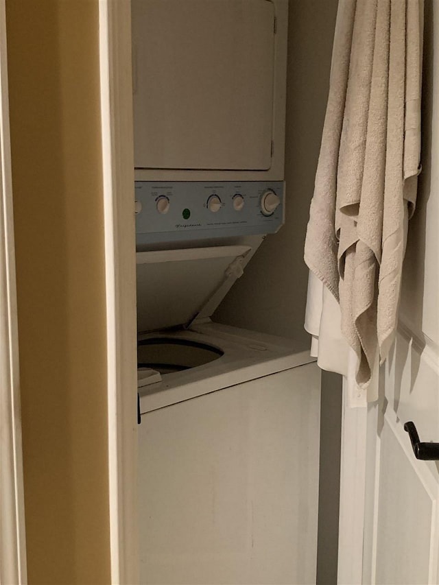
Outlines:
{"type": "Polygon", "coordinates": [[[132,40],[135,167],[270,168],[272,1],[133,0],[132,40]]]}

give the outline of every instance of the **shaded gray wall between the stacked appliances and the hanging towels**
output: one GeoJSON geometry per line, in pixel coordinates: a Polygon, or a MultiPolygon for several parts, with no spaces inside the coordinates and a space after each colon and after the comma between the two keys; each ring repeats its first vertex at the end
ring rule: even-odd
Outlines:
{"type": "Polygon", "coordinates": [[[331,67],[337,0],[289,2],[285,226],[267,237],[215,313],[215,321],[294,337],[303,348],[307,267],[303,243],[331,67]]]}

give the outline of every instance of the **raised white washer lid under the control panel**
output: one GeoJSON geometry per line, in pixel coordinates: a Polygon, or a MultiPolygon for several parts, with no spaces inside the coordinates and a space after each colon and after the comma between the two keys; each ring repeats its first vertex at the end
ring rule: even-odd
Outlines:
{"type": "Polygon", "coordinates": [[[250,250],[216,246],[137,252],[137,330],[189,326],[210,317],[243,274],[250,250]]]}

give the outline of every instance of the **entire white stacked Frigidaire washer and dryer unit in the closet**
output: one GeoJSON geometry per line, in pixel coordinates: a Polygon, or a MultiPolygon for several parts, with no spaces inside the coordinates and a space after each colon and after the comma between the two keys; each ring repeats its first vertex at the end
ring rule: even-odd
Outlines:
{"type": "Polygon", "coordinates": [[[212,320],[284,222],[287,0],[132,0],[132,41],[141,582],[315,582],[318,368],[212,320]]]}

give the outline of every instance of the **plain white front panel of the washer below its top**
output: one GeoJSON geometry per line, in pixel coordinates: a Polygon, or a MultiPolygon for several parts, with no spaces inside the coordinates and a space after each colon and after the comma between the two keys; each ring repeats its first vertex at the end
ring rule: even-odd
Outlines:
{"type": "Polygon", "coordinates": [[[316,582],[319,396],[310,363],[142,416],[141,583],[316,582]]]}

